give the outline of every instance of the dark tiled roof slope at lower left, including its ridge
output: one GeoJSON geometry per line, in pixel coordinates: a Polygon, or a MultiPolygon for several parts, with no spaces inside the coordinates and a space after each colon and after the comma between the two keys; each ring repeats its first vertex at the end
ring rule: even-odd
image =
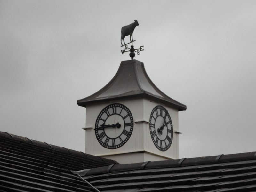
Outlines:
{"type": "Polygon", "coordinates": [[[0,132],[0,191],[94,191],[69,170],[116,162],[0,132]]]}

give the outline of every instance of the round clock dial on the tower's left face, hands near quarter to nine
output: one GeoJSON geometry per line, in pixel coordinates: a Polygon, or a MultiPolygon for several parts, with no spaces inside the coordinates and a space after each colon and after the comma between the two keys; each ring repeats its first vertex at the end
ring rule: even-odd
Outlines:
{"type": "Polygon", "coordinates": [[[132,130],[132,113],[120,103],[102,109],[95,123],[96,138],[100,145],[108,149],[122,147],[131,137],[132,130]]]}

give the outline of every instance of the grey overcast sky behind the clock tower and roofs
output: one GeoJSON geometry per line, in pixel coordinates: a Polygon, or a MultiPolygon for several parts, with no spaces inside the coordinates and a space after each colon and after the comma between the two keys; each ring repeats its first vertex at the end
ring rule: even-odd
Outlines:
{"type": "Polygon", "coordinates": [[[256,1],[0,0],[0,130],[84,151],[76,104],[115,75],[121,27],[187,105],[180,158],[256,151],[256,1]]]}

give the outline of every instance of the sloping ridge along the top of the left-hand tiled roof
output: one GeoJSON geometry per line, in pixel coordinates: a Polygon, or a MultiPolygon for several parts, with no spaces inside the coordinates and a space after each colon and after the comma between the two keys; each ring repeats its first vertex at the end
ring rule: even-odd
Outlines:
{"type": "Polygon", "coordinates": [[[103,158],[103,157],[94,156],[94,155],[91,155],[91,154],[86,154],[82,151],[76,151],[76,150],[68,149],[68,148],[65,148],[65,147],[51,145],[51,144],[48,144],[46,142],[32,140],[32,139],[29,139],[27,137],[22,137],[22,136],[10,134],[8,132],[0,131],[0,137],[7,137],[7,138],[11,138],[13,140],[34,144],[34,145],[41,146],[41,147],[44,147],[44,148],[52,148],[52,149],[58,150],[60,152],[64,152],[64,153],[68,153],[68,154],[72,154],[72,155],[76,155],[76,156],[80,156],[80,157],[86,157],[87,159],[92,159],[92,160],[97,159],[98,161],[108,162],[108,163],[112,163],[112,164],[118,164],[116,161],[111,160],[111,159],[106,159],[106,158],[103,158]]]}

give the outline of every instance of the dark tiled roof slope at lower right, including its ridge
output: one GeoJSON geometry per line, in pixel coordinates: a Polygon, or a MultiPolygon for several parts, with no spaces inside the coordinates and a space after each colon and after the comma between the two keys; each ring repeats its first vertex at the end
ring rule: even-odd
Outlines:
{"type": "Polygon", "coordinates": [[[256,153],[119,164],[73,173],[104,192],[256,191],[256,153]]]}

